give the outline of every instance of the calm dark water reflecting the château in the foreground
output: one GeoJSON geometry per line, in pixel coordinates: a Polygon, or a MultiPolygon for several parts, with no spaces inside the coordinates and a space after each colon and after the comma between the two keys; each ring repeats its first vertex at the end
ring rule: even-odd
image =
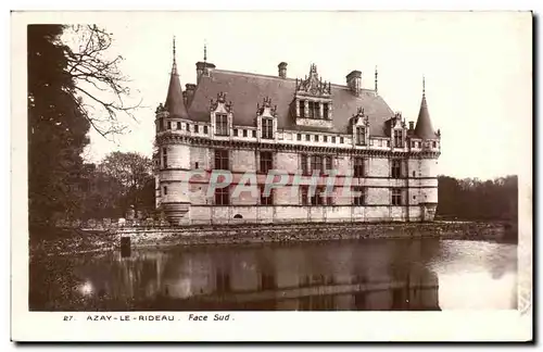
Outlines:
{"type": "Polygon", "coordinates": [[[138,250],[30,264],[31,310],[516,309],[517,246],[362,240],[138,250]]]}

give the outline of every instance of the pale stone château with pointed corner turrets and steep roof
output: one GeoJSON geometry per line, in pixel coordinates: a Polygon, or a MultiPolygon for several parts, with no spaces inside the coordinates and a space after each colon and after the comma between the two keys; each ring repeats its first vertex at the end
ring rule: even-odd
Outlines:
{"type": "Polygon", "coordinates": [[[337,85],[314,64],[301,79],[285,62],[277,76],[218,70],[205,52],[195,66],[182,90],[174,42],[155,113],[156,206],[172,225],[433,219],[441,138],[424,83],[407,126],[379,96],[377,70],[366,89],[359,71],[337,85]],[[254,191],[236,190],[247,175],[254,191]],[[276,176],[280,187],[265,189],[276,176]]]}

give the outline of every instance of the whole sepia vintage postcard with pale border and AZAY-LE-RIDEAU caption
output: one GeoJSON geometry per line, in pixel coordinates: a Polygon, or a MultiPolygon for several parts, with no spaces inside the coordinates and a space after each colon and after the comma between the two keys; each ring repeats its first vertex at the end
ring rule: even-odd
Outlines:
{"type": "Polygon", "coordinates": [[[15,341],[531,341],[530,12],[13,12],[15,341]]]}

